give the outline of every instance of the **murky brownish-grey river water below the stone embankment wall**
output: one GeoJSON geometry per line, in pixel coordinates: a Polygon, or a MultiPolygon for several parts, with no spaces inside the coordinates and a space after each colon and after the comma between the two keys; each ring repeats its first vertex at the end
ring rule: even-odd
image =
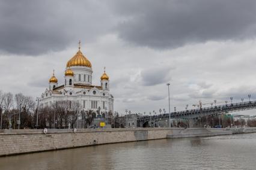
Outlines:
{"type": "Polygon", "coordinates": [[[256,133],[21,154],[0,157],[0,169],[256,169],[256,133]]]}

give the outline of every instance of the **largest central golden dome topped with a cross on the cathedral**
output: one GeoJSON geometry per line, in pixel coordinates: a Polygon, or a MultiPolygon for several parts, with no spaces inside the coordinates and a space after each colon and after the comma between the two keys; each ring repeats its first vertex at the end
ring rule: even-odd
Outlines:
{"type": "Polygon", "coordinates": [[[70,66],[87,66],[87,67],[91,68],[91,62],[80,51],[80,48],[81,48],[80,45],[81,45],[81,42],[79,41],[79,50],[75,54],[75,56],[73,56],[72,59],[70,59],[67,62],[67,67],[70,67],[70,66]]]}

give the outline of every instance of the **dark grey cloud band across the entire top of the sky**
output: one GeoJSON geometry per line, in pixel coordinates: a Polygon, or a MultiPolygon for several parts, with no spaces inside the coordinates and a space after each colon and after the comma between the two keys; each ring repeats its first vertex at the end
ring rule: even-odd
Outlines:
{"type": "Polygon", "coordinates": [[[35,55],[117,34],[151,48],[255,36],[256,1],[0,1],[0,50],[35,55]]]}

